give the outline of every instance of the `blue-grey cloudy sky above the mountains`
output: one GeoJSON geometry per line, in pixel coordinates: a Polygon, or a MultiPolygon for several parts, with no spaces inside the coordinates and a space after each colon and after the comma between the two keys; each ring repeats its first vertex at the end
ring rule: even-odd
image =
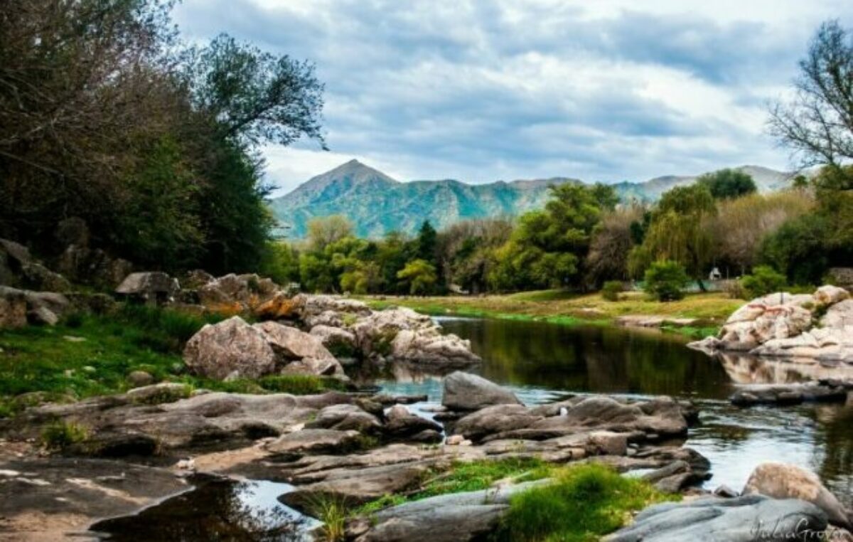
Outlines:
{"type": "Polygon", "coordinates": [[[645,180],[788,165],[764,135],[848,0],[184,0],[219,32],[316,63],[316,143],[265,150],[281,191],[357,158],[400,180],[645,180]]]}

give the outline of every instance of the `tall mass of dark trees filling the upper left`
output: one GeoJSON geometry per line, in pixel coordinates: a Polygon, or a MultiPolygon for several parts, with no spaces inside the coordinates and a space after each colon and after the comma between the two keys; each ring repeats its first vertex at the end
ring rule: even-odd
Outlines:
{"type": "Polygon", "coordinates": [[[259,145],[322,144],[322,85],[227,36],[183,47],[172,5],[4,6],[2,236],[47,254],[78,217],[94,246],[149,269],[257,270],[274,224],[259,145]]]}

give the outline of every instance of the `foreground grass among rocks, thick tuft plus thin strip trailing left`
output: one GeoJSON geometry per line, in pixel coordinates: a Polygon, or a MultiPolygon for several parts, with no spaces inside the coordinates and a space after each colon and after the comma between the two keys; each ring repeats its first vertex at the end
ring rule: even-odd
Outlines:
{"type": "Polygon", "coordinates": [[[357,508],[322,502],[316,508],[316,515],[326,524],[325,539],[334,541],[343,538],[349,517],[369,518],[390,506],[447,493],[487,489],[497,481],[512,479],[518,483],[544,478],[552,482],[510,499],[508,513],[492,540],[596,540],[629,522],[635,511],[679,498],[595,463],[557,466],[535,458],[510,458],[455,463],[449,470],[432,473],[409,495],[387,495],[357,508]]]}

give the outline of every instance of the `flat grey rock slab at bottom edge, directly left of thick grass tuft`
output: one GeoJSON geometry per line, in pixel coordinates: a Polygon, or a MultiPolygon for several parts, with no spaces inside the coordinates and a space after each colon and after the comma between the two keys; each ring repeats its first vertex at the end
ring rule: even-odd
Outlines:
{"type": "Polygon", "coordinates": [[[494,531],[509,498],[547,481],[533,481],[475,492],[450,493],[380,510],[347,525],[357,542],[464,542],[494,531]]]}

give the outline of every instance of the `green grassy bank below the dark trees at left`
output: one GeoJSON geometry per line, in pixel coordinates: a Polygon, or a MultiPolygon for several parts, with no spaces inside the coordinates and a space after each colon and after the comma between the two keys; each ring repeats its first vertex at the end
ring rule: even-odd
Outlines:
{"type": "Polygon", "coordinates": [[[267,376],[218,382],[187,373],[181,353],[189,337],[218,317],[146,306],[109,316],[72,314],[55,327],[0,330],[0,416],[42,400],[122,393],[142,370],[155,382],[243,393],[318,393],[339,382],[315,376],[267,376]]]}

